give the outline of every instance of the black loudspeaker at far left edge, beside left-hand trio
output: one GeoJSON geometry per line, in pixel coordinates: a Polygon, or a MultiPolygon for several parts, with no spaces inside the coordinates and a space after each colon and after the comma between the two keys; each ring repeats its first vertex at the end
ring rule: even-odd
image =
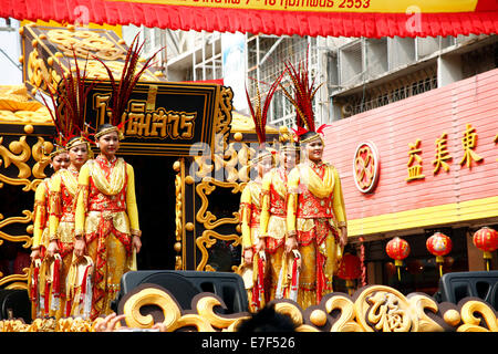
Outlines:
{"type": "Polygon", "coordinates": [[[1,289],[0,290],[0,320],[23,319],[24,323],[31,323],[31,301],[27,290],[1,289]]]}

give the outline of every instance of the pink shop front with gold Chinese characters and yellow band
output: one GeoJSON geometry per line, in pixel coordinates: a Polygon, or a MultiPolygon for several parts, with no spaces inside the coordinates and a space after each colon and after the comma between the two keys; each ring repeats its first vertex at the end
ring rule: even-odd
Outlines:
{"type": "Polygon", "coordinates": [[[495,69],[325,129],[325,159],[340,171],[350,240],[363,248],[369,284],[434,293],[439,273],[426,240],[437,231],[454,246],[445,272],[485,269],[471,238],[498,223],[497,94],[495,69]],[[395,236],[412,249],[401,284],[385,251],[395,236]]]}

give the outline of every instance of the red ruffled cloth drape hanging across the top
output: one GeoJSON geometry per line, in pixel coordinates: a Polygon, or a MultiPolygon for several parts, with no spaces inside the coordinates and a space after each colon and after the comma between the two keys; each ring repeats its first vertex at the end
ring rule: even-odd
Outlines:
{"type": "MultiPolygon", "coordinates": [[[[479,0],[471,12],[353,13],[221,9],[104,0],[2,0],[0,17],[74,23],[144,24],[206,30],[332,37],[436,37],[498,33],[498,1],[479,0]],[[83,9],[83,10],[82,10],[83,9]],[[87,9],[87,11],[86,11],[87,9]],[[415,24],[415,25],[411,25],[415,24]]],[[[415,1],[416,3],[416,1],[415,1]]]]}

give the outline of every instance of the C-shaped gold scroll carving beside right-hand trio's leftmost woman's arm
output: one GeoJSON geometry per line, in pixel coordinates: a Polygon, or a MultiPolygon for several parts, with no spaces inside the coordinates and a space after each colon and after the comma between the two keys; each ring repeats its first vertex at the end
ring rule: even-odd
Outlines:
{"type": "Polygon", "coordinates": [[[207,196],[209,196],[216,187],[222,187],[222,188],[232,188],[232,194],[240,192],[240,184],[237,183],[228,183],[228,181],[220,181],[210,177],[203,178],[203,181],[196,186],[196,192],[200,197],[200,200],[203,201],[199,210],[196,215],[197,222],[200,222],[204,225],[205,229],[212,230],[217,228],[220,225],[225,223],[239,223],[239,212],[234,211],[234,218],[222,218],[217,220],[216,216],[212,215],[210,211],[207,211],[207,208],[209,206],[209,200],[207,196]]]}

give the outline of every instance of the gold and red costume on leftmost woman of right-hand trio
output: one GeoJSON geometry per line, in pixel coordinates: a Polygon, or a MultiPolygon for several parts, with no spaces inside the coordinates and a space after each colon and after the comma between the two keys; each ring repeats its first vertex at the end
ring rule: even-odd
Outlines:
{"type": "MultiPolygon", "coordinates": [[[[261,185],[255,180],[249,181],[240,196],[240,226],[242,229],[242,249],[252,249],[255,252],[256,244],[259,242],[259,222],[261,217],[261,185]]],[[[257,257],[255,254],[255,260],[257,257]]],[[[257,267],[257,263],[255,263],[257,267]]],[[[257,287],[252,285],[247,289],[249,309],[258,310],[256,298],[257,287]]]]}

